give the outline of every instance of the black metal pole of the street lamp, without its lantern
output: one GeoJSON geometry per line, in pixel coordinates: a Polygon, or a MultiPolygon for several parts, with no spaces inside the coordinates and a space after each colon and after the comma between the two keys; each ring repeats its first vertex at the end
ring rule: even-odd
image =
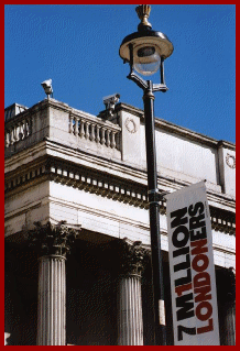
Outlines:
{"type": "Polygon", "coordinates": [[[154,294],[155,344],[166,344],[165,306],[163,290],[163,268],[160,234],[160,202],[157,198],[157,171],[155,152],[154,95],[152,81],[144,89],[145,144],[148,164],[148,187],[150,202],[150,233],[152,250],[152,276],[154,294]]]}

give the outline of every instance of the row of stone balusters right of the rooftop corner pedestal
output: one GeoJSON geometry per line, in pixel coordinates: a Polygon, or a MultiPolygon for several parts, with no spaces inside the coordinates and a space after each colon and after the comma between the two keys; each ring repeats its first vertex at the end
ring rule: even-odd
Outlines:
{"type": "Polygon", "coordinates": [[[90,116],[69,114],[69,133],[107,147],[120,150],[121,128],[90,116]]]}

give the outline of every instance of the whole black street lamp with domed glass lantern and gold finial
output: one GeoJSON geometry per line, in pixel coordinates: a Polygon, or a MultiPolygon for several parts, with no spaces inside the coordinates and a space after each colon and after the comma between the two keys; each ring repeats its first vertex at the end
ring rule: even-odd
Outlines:
{"type": "Polygon", "coordinates": [[[145,143],[148,164],[148,188],[150,204],[150,233],[152,251],[152,275],[154,289],[154,322],[155,344],[166,344],[165,306],[163,290],[163,268],[160,234],[160,199],[157,189],[155,123],[154,123],[154,91],[167,90],[164,79],[164,59],[172,55],[173,44],[167,36],[152,30],[148,19],[151,7],[141,4],[135,8],[141,20],[138,32],[126,36],[121,43],[119,55],[124,63],[130,64],[128,78],[143,89],[145,143]],[[144,80],[143,76],[151,76],[160,70],[160,84],[144,80]]]}

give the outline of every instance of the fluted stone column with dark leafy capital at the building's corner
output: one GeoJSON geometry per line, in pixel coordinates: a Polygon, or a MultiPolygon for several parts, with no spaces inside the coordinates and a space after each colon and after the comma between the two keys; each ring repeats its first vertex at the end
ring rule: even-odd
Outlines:
{"type": "Polygon", "coordinates": [[[64,223],[35,223],[31,235],[40,250],[37,345],[66,345],[65,261],[76,231],[64,223]]]}

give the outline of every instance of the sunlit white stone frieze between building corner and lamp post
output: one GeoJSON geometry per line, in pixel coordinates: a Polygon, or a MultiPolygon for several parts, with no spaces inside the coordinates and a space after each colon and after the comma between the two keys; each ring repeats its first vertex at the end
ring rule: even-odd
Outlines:
{"type": "Polygon", "coordinates": [[[51,182],[50,217],[114,238],[149,244],[149,212],[139,207],[51,182]]]}

